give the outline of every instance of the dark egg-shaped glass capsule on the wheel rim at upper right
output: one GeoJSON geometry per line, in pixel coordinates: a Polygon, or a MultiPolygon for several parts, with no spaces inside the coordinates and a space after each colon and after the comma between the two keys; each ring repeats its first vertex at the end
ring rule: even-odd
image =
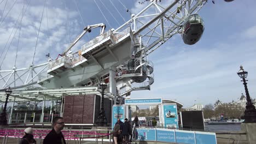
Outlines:
{"type": "Polygon", "coordinates": [[[202,18],[198,14],[193,14],[184,20],[184,25],[182,26],[182,39],[185,44],[193,45],[200,40],[203,31],[204,23],[202,18]]]}

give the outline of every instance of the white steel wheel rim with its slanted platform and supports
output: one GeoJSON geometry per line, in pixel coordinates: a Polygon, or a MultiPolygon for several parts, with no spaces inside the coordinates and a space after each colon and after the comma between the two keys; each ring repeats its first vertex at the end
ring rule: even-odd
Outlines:
{"type": "MultiPolygon", "coordinates": [[[[0,69],[1,89],[3,91],[10,86],[13,89],[11,96],[15,97],[16,101],[61,99],[61,89],[66,94],[99,93],[96,86],[100,81],[107,80],[106,77],[109,77],[110,81],[107,96],[111,98],[119,96],[123,99],[123,95],[130,95],[133,90],[150,89],[154,82],[153,63],[148,61],[147,56],[174,34],[182,34],[184,20],[197,14],[206,2],[207,0],[173,0],[162,4],[159,0],[151,0],[137,14],[131,14],[131,19],[119,28],[104,32],[84,44],[80,51],[73,52],[76,56],[72,57],[72,61],[62,57],[42,64],[27,65],[25,68],[16,65],[13,69],[0,69]],[[129,51],[123,51],[122,47],[129,47],[129,51]],[[147,68],[147,80],[141,83],[141,86],[133,87],[132,77],[142,76],[142,73],[122,76],[116,71],[119,68],[127,70],[125,63],[132,58],[139,61],[137,69],[147,68]],[[110,73],[109,69],[114,72],[110,73]],[[86,74],[86,70],[93,73],[86,74]],[[40,85],[42,88],[22,90],[33,85],[40,85]],[[21,90],[15,92],[14,89],[21,90]]],[[[4,100],[3,91],[0,93],[0,101],[4,100]]]]}

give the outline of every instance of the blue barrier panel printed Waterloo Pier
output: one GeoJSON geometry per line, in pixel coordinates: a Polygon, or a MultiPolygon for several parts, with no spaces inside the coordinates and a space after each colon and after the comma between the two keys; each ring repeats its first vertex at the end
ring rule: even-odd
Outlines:
{"type": "Polygon", "coordinates": [[[175,136],[177,143],[195,143],[195,131],[176,130],[175,136]]]}

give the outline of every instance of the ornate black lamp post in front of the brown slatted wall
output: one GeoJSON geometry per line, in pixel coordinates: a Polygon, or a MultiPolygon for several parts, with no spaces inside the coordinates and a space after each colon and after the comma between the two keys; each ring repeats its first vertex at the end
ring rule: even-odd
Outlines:
{"type": "Polygon", "coordinates": [[[104,110],[104,91],[107,88],[106,83],[101,83],[100,84],[101,88],[101,110],[98,115],[98,118],[96,120],[96,125],[97,126],[107,126],[107,119],[105,117],[105,110],[104,110]]]}

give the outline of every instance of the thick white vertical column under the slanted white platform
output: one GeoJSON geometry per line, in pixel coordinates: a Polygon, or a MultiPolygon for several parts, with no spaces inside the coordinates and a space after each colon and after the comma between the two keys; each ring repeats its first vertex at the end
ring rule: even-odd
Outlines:
{"type": "Polygon", "coordinates": [[[117,104],[117,81],[115,81],[115,67],[109,68],[109,92],[115,95],[114,105],[117,104]]]}

